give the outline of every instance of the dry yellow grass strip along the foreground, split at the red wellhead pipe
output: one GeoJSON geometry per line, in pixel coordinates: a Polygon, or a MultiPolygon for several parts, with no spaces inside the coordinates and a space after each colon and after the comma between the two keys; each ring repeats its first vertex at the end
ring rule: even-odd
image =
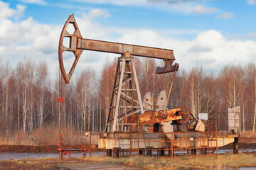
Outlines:
{"type": "MultiPolygon", "coordinates": [[[[0,161],[6,162],[6,161],[0,161]]],[[[46,159],[26,159],[26,160],[9,160],[7,162],[16,162],[17,164],[43,164],[43,166],[53,166],[58,163],[57,158],[46,159]]],[[[240,167],[256,167],[255,154],[222,154],[212,157],[80,157],[64,159],[65,164],[86,164],[90,162],[106,162],[114,164],[124,164],[127,166],[137,166],[144,169],[238,169],[240,167]]],[[[75,165],[74,165],[75,166],[75,165]]],[[[21,166],[23,167],[23,166],[21,166]]]]}

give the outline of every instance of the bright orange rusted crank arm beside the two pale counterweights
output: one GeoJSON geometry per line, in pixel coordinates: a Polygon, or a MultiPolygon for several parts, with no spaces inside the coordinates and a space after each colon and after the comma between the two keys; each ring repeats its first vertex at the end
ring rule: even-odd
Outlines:
{"type": "Polygon", "coordinates": [[[176,112],[180,112],[181,108],[173,108],[166,111],[146,111],[142,115],[138,115],[139,125],[151,125],[154,123],[162,123],[172,120],[181,120],[182,116],[177,115],[176,112]]]}

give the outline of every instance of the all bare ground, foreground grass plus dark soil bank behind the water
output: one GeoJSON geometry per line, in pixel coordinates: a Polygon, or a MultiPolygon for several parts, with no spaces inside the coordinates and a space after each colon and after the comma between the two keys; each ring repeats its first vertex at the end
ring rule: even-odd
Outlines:
{"type": "MultiPolygon", "coordinates": [[[[65,149],[88,148],[82,145],[64,146],[65,149]]],[[[23,146],[0,145],[0,152],[26,152],[26,153],[56,153],[56,145],[23,146]]],[[[241,137],[240,149],[256,149],[255,137],[241,137]]],[[[93,145],[93,151],[97,146],[93,145]]],[[[233,144],[219,149],[233,149],[233,144]]],[[[88,155],[88,154],[87,154],[88,155]]],[[[243,152],[238,155],[219,154],[218,157],[182,157],[170,159],[169,157],[80,157],[47,159],[20,159],[0,161],[0,169],[238,169],[240,167],[256,167],[256,152],[243,152]]]]}

